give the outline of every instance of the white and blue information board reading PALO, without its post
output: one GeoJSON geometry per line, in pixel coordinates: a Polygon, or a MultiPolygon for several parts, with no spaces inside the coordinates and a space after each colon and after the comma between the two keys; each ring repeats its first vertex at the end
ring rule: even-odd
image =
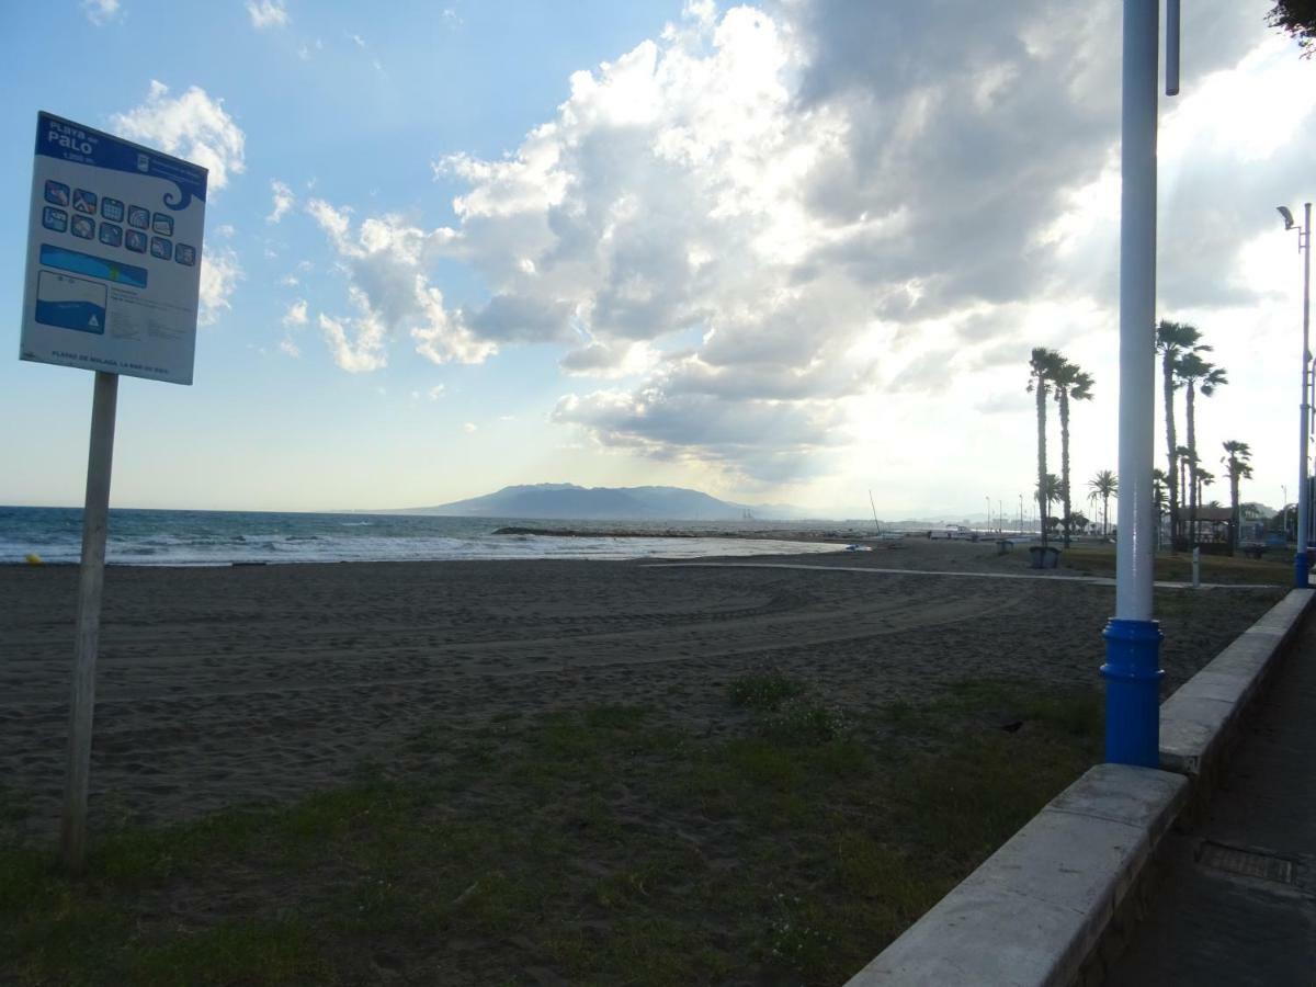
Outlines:
{"type": "Polygon", "coordinates": [[[37,116],[18,355],[192,383],[207,170],[37,116]]]}

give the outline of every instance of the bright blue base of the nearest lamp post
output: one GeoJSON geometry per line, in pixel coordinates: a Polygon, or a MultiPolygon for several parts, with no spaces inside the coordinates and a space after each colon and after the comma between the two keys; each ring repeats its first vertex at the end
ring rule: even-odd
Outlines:
{"type": "Polygon", "coordinates": [[[1161,763],[1161,625],[1116,620],[1105,638],[1105,761],[1157,767],[1161,763]]]}

